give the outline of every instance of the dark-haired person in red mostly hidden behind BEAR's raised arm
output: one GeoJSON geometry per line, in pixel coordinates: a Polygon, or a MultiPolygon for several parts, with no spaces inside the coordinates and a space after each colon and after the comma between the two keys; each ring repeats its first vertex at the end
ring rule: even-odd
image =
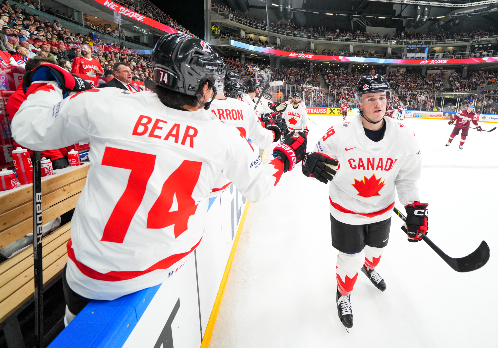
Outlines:
{"type": "MultiPolygon", "coordinates": [[[[26,72],[33,70],[35,67],[37,67],[40,64],[48,64],[52,63],[52,59],[48,57],[36,57],[36,58],[31,58],[28,60],[28,62],[25,65],[26,72]]],[[[13,118],[19,107],[21,106],[22,102],[26,100],[26,96],[24,95],[24,91],[22,90],[22,81],[19,83],[17,86],[17,89],[15,90],[14,93],[10,95],[8,98],[7,104],[5,105],[5,110],[8,114],[8,117],[10,119],[13,118]]],[[[15,142],[15,139],[13,141],[13,144],[15,147],[20,147],[18,143],[15,142]]],[[[27,149],[29,152],[29,155],[33,155],[33,151],[30,149],[27,149]]],[[[52,161],[52,165],[54,169],[60,169],[60,168],[66,168],[69,163],[67,159],[64,157],[63,153],[61,152],[63,150],[64,153],[67,154],[67,149],[55,149],[55,150],[46,150],[46,151],[41,151],[41,156],[42,157],[48,157],[52,161]]]]}

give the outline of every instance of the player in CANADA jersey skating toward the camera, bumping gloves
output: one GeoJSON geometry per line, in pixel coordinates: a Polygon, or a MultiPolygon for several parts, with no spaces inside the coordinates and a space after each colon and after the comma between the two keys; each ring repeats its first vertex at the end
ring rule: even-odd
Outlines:
{"type": "Polygon", "coordinates": [[[391,93],[381,75],[362,77],[356,88],[360,115],[330,127],[316,144],[317,152],[302,163],[306,176],[331,181],[332,245],[339,250],[336,300],[346,328],[353,326],[350,296],[358,271],[379,290],[386,288],[375,266],[388,242],[396,191],[407,213],[402,229],[408,241],[427,233],[428,204],[419,202],[417,188],[420,148],[412,130],[384,117],[391,93]]]}

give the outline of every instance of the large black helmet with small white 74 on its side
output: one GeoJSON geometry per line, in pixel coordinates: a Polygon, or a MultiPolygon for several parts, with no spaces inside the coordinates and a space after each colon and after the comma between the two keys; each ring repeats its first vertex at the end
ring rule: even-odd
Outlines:
{"type": "Polygon", "coordinates": [[[209,82],[216,95],[223,90],[226,73],[223,59],[207,42],[181,33],[166,34],[157,41],[152,69],[157,85],[196,96],[205,109],[211,102],[201,102],[204,84],[209,82]]]}

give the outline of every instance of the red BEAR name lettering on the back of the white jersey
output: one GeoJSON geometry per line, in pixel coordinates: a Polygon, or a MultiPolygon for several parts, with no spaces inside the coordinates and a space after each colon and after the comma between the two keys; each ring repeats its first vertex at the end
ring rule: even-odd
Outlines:
{"type": "Polygon", "coordinates": [[[177,121],[166,121],[160,118],[140,115],[134,122],[131,134],[128,137],[139,137],[143,140],[167,141],[184,145],[186,148],[193,148],[197,144],[195,139],[199,135],[198,125],[191,126],[177,121]]]}

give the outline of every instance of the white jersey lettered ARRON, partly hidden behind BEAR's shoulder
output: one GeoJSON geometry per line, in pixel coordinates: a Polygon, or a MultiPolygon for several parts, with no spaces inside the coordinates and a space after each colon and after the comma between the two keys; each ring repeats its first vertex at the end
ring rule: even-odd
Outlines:
{"type": "MultiPolygon", "coordinates": [[[[273,143],[274,133],[261,126],[254,110],[246,103],[234,98],[215,99],[209,110],[224,123],[239,129],[241,136],[248,138],[253,145],[267,149],[273,143]]],[[[231,183],[225,175],[220,175],[210,196],[220,195],[231,183]]]]}

